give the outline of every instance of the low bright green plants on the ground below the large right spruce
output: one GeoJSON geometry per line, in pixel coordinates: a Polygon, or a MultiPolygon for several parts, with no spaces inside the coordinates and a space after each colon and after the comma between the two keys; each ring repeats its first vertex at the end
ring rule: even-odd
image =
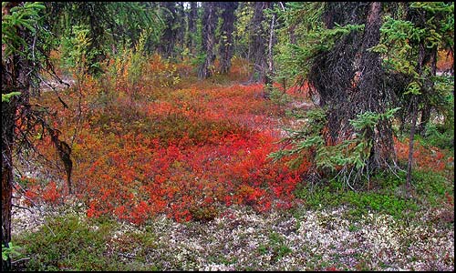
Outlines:
{"type": "Polygon", "coordinates": [[[374,190],[352,191],[343,188],[341,182],[334,180],[330,185],[310,188],[301,185],[296,188],[295,196],[305,201],[306,207],[323,209],[347,205],[353,217],[366,215],[368,211],[387,213],[397,219],[412,217],[414,213],[430,207],[444,206],[446,194],[453,194],[452,182],[430,171],[413,172],[415,194],[404,192],[405,174],[399,177],[392,174],[379,174],[372,177],[374,190]],[[449,191],[450,190],[450,191],[449,191]]]}

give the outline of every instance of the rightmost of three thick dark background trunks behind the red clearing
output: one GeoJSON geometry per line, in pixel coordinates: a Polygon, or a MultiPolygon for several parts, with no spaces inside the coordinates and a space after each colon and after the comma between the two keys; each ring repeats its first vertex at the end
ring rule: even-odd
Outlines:
{"type": "Polygon", "coordinates": [[[267,70],[266,46],[268,33],[262,27],[264,9],[269,8],[270,2],[254,2],[254,17],[251,22],[249,61],[254,64],[251,82],[265,82],[267,70]]]}

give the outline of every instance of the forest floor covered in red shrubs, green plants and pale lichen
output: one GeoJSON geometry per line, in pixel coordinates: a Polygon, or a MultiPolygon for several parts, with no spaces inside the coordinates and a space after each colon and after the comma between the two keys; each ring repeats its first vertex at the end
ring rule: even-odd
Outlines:
{"type": "MultiPolygon", "coordinates": [[[[78,125],[77,194],[23,179],[35,206],[14,207],[16,270],[454,270],[451,152],[418,147],[411,192],[403,174],[369,191],[311,190],[298,175],[308,166],[267,157],[305,125],[291,116],[312,106],[305,93],[267,99],[238,78],[180,76],[88,79],[84,118],[59,109],[58,126],[78,125]]],[[[61,96],[77,106],[70,89],[61,96]]],[[[51,93],[40,103],[56,106],[51,93]]]]}

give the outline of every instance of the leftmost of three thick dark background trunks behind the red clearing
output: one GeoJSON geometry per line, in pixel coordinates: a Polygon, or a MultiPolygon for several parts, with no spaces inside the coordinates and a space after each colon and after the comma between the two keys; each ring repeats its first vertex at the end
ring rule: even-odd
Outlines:
{"type": "Polygon", "coordinates": [[[205,52],[206,57],[204,62],[198,68],[198,78],[204,79],[212,76],[213,62],[215,55],[213,54],[213,45],[215,42],[215,2],[203,2],[203,16],[202,16],[202,51],[205,52]]]}

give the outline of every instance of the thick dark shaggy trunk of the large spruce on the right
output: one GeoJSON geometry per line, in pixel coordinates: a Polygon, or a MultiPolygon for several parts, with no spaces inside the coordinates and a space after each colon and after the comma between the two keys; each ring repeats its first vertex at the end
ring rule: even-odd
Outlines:
{"type": "MultiPolygon", "coordinates": [[[[319,96],[320,106],[327,107],[326,144],[334,145],[353,136],[355,128],[350,120],[359,114],[384,113],[393,94],[385,87],[380,56],[368,51],[378,45],[380,39],[381,3],[331,2],[325,5],[326,28],[365,25],[364,31],[343,35],[331,50],[316,56],[308,74],[311,92],[319,96]]],[[[372,144],[368,158],[364,158],[367,160],[362,170],[365,175],[369,177],[376,170],[396,165],[388,120],[380,120],[375,127],[360,133],[372,144]]]]}

